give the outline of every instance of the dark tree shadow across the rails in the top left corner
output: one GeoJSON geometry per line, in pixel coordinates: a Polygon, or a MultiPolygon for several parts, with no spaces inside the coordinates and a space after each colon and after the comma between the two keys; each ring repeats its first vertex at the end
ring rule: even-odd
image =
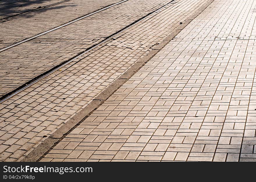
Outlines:
{"type": "MultiPolygon", "coordinates": [[[[49,1],[49,0],[11,0],[6,3],[6,0],[0,0],[0,19],[6,19],[8,17],[16,16],[28,11],[32,11],[38,8],[42,8],[45,6],[49,6],[54,3],[59,3],[63,2],[65,0],[59,0],[59,1],[49,1]],[[17,3],[18,2],[18,3],[17,3]],[[15,3],[15,4],[12,4],[15,3]],[[9,5],[8,5],[9,4],[9,5]],[[7,5],[7,6],[5,6],[7,5]]],[[[68,1],[66,1],[68,2],[68,1]]],[[[65,3],[65,2],[63,2],[65,3]]],[[[45,12],[47,10],[52,10],[52,9],[60,9],[66,6],[77,6],[76,4],[74,5],[63,5],[62,3],[56,4],[54,6],[50,6],[48,8],[43,8],[40,10],[37,10],[38,13],[45,12]]],[[[25,17],[33,17],[33,13],[26,13],[23,14],[25,17]]]]}

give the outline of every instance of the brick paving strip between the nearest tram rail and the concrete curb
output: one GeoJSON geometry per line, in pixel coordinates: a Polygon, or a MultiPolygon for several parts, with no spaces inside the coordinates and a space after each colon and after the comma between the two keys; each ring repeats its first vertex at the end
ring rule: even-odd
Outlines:
{"type": "Polygon", "coordinates": [[[1,160],[29,154],[206,3],[177,2],[2,103],[1,160]]]}

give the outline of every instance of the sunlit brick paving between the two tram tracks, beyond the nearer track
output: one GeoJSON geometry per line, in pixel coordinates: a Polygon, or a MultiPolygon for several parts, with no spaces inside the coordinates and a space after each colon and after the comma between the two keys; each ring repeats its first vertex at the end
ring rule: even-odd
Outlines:
{"type": "MultiPolygon", "coordinates": [[[[101,0],[97,2],[70,0],[53,7],[11,17],[9,21],[3,20],[0,22],[0,48],[22,41],[117,2],[119,0],[101,0]],[[81,4],[86,4],[86,6],[81,6],[81,4]]],[[[30,6],[27,5],[26,8],[30,6]]]]}

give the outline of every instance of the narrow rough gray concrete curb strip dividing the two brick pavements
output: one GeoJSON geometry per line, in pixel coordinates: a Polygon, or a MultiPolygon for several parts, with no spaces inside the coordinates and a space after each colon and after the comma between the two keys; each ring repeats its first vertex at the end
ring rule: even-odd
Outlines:
{"type": "Polygon", "coordinates": [[[214,0],[209,0],[202,6],[196,13],[190,16],[186,21],[182,22],[172,33],[170,33],[164,41],[155,45],[141,60],[138,60],[129,70],[122,76],[116,79],[109,85],[103,92],[101,92],[89,105],[76,114],[72,119],[65,123],[61,128],[51,134],[45,141],[40,143],[32,152],[30,152],[23,162],[39,161],[42,159],[49,150],[58,144],[68,133],[70,133],[77,125],[83,122],[94,110],[96,110],[104,101],[109,98],[115,90],[120,88],[132,75],[134,75],[147,61],[149,61],[157,52],[159,52],[170,40],[172,40],[183,28],[185,28],[195,17],[197,17],[203,10],[205,10],[214,0]]]}

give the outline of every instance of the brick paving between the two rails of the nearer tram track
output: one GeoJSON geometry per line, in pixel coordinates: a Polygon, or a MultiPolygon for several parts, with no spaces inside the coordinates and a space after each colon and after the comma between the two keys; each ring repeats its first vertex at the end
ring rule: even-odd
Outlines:
{"type": "MultiPolygon", "coordinates": [[[[0,52],[0,95],[71,59],[168,2],[170,0],[129,0],[0,52]]],[[[8,38],[8,33],[5,33],[4,40],[9,41],[8,38]]]]}

